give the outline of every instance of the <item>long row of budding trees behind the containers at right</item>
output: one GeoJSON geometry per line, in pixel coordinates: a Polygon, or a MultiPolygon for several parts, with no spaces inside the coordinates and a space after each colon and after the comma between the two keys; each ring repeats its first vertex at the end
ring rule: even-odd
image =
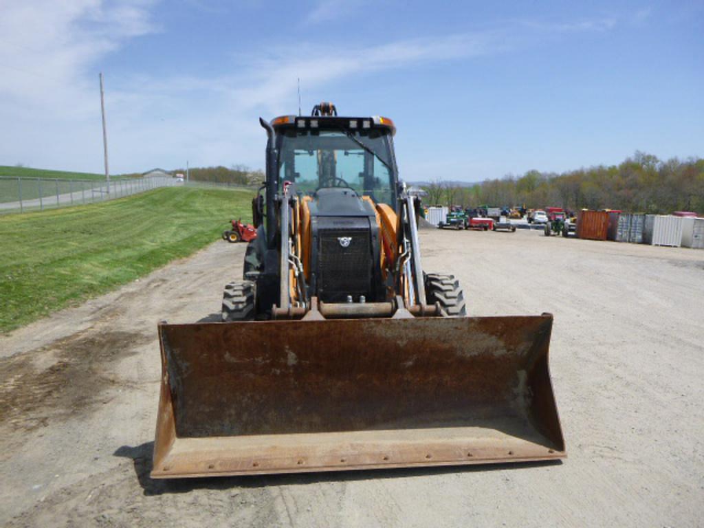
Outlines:
{"type": "Polygon", "coordinates": [[[598,165],[560,174],[529,170],[460,186],[441,180],[423,186],[428,206],[563,207],[621,209],[639,213],[704,213],[704,159],[662,161],[636,151],[619,165],[598,165]]]}

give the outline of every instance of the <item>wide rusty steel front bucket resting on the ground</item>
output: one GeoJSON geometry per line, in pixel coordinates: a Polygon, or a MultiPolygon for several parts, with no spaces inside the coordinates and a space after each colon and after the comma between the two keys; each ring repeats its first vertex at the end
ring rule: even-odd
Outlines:
{"type": "Polygon", "coordinates": [[[565,457],[553,318],[160,325],[153,478],[565,457]]]}

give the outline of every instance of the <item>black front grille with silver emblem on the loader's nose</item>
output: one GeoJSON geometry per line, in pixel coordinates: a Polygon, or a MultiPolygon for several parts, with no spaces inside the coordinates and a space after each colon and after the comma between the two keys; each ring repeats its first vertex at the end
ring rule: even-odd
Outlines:
{"type": "Polygon", "coordinates": [[[318,260],[318,295],[322,301],[341,303],[348,295],[370,298],[372,252],[370,230],[321,230],[318,260]],[[349,237],[343,247],[339,239],[349,237]]]}

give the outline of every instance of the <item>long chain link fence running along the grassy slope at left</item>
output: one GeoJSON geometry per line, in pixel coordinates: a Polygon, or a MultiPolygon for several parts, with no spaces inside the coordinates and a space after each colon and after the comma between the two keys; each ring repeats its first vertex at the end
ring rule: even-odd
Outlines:
{"type": "Polygon", "coordinates": [[[27,177],[0,177],[0,214],[97,203],[122,198],[157,187],[182,183],[172,177],[111,180],[62,180],[27,177]]]}

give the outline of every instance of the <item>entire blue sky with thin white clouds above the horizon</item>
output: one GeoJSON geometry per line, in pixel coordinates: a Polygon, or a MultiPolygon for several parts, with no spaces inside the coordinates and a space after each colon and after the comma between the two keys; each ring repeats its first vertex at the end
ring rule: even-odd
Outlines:
{"type": "Polygon", "coordinates": [[[406,180],[703,156],[704,4],[3,0],[0,165],[263,166],[258,116],[387,115],[406,180]]]}

